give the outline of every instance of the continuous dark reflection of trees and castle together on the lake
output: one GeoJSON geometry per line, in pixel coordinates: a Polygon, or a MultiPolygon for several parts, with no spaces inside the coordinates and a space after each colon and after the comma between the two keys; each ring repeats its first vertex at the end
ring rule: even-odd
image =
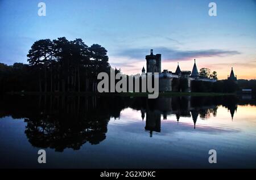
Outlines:
{"type": "Polygon", "coordinates": [[[11,115],[24,118],[28,141],[39,148],[80,149],[85,143],[99,144],[106,139],[110,118],[119,118],[121,111],[132,108],[146,119],[145,130],[152,137],[161,132],[161,117],[175,115],[191,117],[196,128],[197,119],[217,115],[218,106],[225,106],[233,119],[238,101],[234,96],[223,97],[79,97],[79,96],[9,96],[2,97],[0,118],[11,115]]]}

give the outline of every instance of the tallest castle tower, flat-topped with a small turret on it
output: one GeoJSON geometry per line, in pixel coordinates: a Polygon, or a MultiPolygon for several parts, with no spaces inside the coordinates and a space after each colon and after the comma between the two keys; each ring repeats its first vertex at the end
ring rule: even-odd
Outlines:
{"type": "Polygon", "coordinates": [[[150,55],[146,55],[147,60],[147,72],[161,72],[161,54],[153,54],[153,50],[150,50],[150,55]]]}

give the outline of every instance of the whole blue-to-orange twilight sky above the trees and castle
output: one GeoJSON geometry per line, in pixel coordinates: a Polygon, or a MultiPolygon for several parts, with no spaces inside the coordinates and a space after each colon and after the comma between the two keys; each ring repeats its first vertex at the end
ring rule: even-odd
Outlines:
{"type": "Polygon", "coordinates": [[[137,74],[145,55],[162,54],[162,70],[217,71],[219,79],[231,67],[238,79],[256,79],[256,1],[97,0],[46,1],[46,16],[38,16],[40,1],[0,1],[0,62],[27,63],[34,41],[57,37],[82,38],[108,50],[112,67],[137,74]],[[209,2],[217,16],[209,16],[209,2]]]}

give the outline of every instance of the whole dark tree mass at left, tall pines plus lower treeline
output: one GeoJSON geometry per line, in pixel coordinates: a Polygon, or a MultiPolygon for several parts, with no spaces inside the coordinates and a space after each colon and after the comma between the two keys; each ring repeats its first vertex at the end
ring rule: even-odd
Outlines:
{"type": "Polygon", "coordinates": [[[27,54],[28,65],[0,64],[0,91],[96,92],[97,74],[110,72],[108,51],[87,46],[81,38],[38,40],[27,54]]]}

